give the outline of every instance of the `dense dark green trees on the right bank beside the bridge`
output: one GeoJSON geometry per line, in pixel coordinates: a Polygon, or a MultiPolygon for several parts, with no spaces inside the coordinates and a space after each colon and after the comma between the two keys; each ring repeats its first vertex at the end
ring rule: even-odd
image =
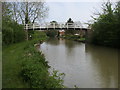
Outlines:
{"type": "Polygon", "coordinates": [[[107,2],[102,6],[103,13],[98,14],[98,18],[94,18],[92,24],[91,42],[97,45],[110,47],[120,46],[120,2],[112,6],[107,2]]]}

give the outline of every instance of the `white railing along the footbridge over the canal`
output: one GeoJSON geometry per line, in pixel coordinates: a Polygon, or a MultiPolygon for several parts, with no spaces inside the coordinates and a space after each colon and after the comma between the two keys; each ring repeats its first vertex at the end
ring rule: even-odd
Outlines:
{"type": "Polygon", "coordinates": [[[86,24],[84,23],[81,23],[80,21],[78,22],[74,22],[74,23],[63,23],[63,22],[57,22],[57,23],[50,23],[50,22],[45,22],[45,23],[41,23],[41,24],[38,24],[38,23],[34,23],[34,24],[26,24],[25,25],[25,29],[36,29],[36,28],[39,28],[40,30],[43,29],[43,28],[47,28],[47,30],[49,28],[87,28],[85,27],[86,24]]]}

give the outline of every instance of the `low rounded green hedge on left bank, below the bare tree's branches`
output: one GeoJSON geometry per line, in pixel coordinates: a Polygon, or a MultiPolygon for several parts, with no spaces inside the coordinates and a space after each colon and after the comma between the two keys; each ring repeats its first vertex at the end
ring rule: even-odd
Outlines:
{"type": "Polygon", "coordinates": [[[22,25],[14,21],[2,22],[3,45],[9,45],[25,40],[25,32],[22,25]]]}

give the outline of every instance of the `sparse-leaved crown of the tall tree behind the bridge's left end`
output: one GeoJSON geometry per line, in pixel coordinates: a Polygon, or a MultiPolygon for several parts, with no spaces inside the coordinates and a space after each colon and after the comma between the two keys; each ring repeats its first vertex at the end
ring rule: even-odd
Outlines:
{"type": "Polygon", "coordinates": [[[45,2],[11,2],[13,19],[22,24],[34,23],[47,16],[48,7],[45,2]]]}

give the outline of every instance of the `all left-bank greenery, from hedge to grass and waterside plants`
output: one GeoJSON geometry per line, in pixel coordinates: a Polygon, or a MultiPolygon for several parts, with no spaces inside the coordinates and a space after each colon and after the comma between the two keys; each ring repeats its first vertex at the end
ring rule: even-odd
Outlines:
{"type": "Polygon", "coordinates": [[[30,31],[26,41],[23,25],[12,19],[9,3],[3,3],[2,15],[2,87],[3,88],[63,88],[63,73],[53,70],[38,47],[47,39],[45,32],[30,31]],[[4,8],[5,7],[5,8],[4,8]]]}

